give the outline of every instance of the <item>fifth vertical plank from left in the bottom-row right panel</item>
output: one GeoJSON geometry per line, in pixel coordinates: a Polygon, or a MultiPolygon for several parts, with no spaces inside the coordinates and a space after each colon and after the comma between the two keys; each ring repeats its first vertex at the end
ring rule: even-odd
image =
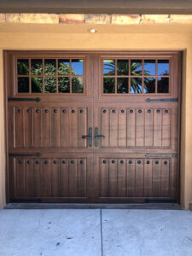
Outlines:
{"type": "Polygon", "coordinates": [[[143,196],[143,194],[144,194],[143,160],[136,160],[136,196],[143,196]]]}

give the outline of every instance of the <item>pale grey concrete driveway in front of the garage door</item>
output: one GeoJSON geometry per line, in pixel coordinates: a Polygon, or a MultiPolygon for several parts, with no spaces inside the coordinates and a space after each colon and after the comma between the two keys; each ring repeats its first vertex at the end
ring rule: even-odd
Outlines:
{"type": "Polygon", "coordinates": [[[192,212],[0,210],[0,255],[191,256],[192,212]]]}

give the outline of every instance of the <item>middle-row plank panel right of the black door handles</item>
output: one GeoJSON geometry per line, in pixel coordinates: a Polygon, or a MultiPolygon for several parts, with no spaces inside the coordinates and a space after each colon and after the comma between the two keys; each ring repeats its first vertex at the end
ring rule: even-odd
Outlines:
{"type": "Polygon", "coordinates": [[[96,106],[95,112],[100,117],[96,126],[104,136],[98,148],[175,148],[172,108],[96,106]]]}

